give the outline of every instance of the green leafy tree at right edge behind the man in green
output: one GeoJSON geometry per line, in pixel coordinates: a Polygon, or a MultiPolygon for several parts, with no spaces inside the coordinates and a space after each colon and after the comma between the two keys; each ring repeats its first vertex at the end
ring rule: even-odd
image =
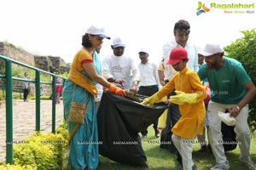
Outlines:
{"type": "MultiPolygon", "coordinates": [[[[224,47],[225,52],[230,58],[237,59],[244,66],[249,77],[256,84],[256,31],[241,31],[244,37],[241,37],[224,47]]],[[[256,130],[256,98],[249,103],[249,127],[256,130]]]]}

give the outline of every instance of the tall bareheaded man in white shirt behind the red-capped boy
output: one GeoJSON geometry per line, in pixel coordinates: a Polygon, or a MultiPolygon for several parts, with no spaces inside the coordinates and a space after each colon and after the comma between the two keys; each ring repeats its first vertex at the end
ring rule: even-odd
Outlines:
{"type": "MultiPolygon", "coordinates": [[[[163,46],[163,65],[164,65],[164,81],[168,82],[175,74],[176,71],[172,68],[172,65],[166,65],[166,62],[168,61],[170,57],[170,53],[173,48],[176,48],[177,46],[181,46],[187,50],[189,62],[187,65],[189,66],[189,69],[197,72],[199,69],[198,66],[198,54],[197,54],[197,47],[191,43],[188,42],[189,40],[189,33],[190,33],[190,25],[187,20],[178,20],[173,29],[174,33],[174,39],[171,42],[167,42],[163,46]]],[[[160,80],[163,82],[163,80],[160,80]]],[[[174,91],[168,95],[168,98],[171,95],[175,95],[174,91]]],[[[180,118],[180,112],[178,109],[178,105],[170,105],[168,109],[168,116],[166,125],[169,124],[171,127],[173,127],[178,119],[180,118]]],[[[182,167],[182,158],[177,152],[177,161],[179,162],[179,169],[183,169],[182,167]]]]}

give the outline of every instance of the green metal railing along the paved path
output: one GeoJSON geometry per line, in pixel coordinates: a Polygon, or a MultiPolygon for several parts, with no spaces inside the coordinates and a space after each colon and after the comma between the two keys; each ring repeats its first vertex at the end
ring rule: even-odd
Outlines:
{"type": "MultiPolygon", "coordinates": [[[[26,65],[14,59],[9,59],[3,55],[0,55],[0,59],[5,61],[5,74],[0,74],[0,79],[5,79],[5,99],[6,99],[6,163],[13,164],[13,91],[12,91],[12,81],[22,81],[22,82],[34,82],[36,88],[36,125],[35,130],[40,131],[40,84],[49,84],[52,86],[52,133],[55,133],[55,92],[56,92],[56,77],[60,77],[48,71],[40,70],[31,65],[26,65]],[[28,69],[36,71],[35,80],[27,80],[19,77],[12,77],[12,64],[21,65],[28,69]],[[48,74],[52,77],[52,82],[41,82],[40,73],[48,74]]],[[[65,81],[65,77],[61,77],[65,81]]]]}

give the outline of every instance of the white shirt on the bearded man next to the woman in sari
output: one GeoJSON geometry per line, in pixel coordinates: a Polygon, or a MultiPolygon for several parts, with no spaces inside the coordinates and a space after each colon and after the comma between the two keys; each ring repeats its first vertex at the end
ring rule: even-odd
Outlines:
{"type": "MultiPolygon", "coordinates": [[[[124,87],[129,90],[131,82],[141,80],[140,73],[137,68],[137,63],[134,59],[125,54],[116,56],[108,55],[102,60],[102,75],[106,79],[117,78],[124,79],[124,87]]],[[[116,84],[119,85],[119,84],[116,84]]]]}

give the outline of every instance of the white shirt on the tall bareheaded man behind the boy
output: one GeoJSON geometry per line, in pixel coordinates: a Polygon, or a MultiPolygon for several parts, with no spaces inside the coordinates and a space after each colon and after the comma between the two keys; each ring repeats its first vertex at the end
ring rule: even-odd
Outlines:
{"type": "MultiPolygon", "coordinates": [[[[170,54],[173,48],[176,48],[179,46],[175,39],[173,39],[171,42],[167,42],[163,46],[163,64],[165,66],[165,81],[171,79],[176,71],[172,68],[172,65],[166,65],[166,62],[170,58],[170,54]]],[[[189,69],[192,71],[197,72],[199,69],[198,65],[198,54],[197,54],[197,48],[195,45],[190,44],[189,42],[186,43],[185,49],[187,50],[188,57],[189,57],[189,62],[187,63],[189,69]]]]}

